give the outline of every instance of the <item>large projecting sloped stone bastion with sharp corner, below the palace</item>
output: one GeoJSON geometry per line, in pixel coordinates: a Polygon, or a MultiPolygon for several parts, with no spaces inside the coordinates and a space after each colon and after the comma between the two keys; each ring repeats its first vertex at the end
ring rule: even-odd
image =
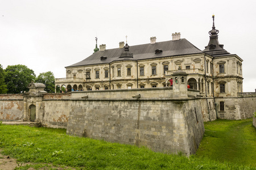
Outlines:
{"type": "Polygon", "coordinates": [[[200,100],[74,99],[67,134],[190,155],[204,124],[200,100]]]}

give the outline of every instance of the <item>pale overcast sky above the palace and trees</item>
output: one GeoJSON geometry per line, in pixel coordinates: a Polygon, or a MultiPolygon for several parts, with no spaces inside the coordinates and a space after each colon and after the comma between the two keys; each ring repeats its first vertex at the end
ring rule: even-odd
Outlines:
{"type": "Polygon", "coordinates": [[[118,48],[171,40],[180,32],[197,48],[208,45],[208,31],[220,31],[218,41],[243,59],[243,91],[256,88],[256,1],[67,1],[0,0],[0,58],[8,65],[26,65],[40,73],[65,78],[65,66],[89,57],[106,44],[118,48]]]}

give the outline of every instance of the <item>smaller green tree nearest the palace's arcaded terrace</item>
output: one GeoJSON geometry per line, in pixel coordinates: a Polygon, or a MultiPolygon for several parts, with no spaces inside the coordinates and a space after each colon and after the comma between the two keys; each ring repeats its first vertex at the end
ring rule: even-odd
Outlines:
{"type": "Polygon", "coordinates": [[[35,80],[36,83],[43,83],[46,85],[46,88],[44,89],[48,93],[54,93],[55,92],[55,77],[51,71],[48,71],[46,73],[40,73],[39,76],[35,80]]]}

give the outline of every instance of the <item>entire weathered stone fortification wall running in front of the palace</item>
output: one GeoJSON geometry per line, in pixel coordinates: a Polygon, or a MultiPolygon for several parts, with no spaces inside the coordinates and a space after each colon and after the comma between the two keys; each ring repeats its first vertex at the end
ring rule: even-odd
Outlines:
{"type": "Polygon", "coordinates": [[[184,98],[172,94],[171,87],[164,87],[0,95],[0,120],[23,121],[30,117],[24,114],[30,114],[27,110],[34,104],[37,122],[66,128],[71,135],[190,155],[203,138],[204,121],[248,118],[255,112],[256,96],[251,94],[225,99],[200,97],[195,90],[188,90],[189,97],[184,98]],[[218,112],[222,100],[224,113],[218,112]]]}

